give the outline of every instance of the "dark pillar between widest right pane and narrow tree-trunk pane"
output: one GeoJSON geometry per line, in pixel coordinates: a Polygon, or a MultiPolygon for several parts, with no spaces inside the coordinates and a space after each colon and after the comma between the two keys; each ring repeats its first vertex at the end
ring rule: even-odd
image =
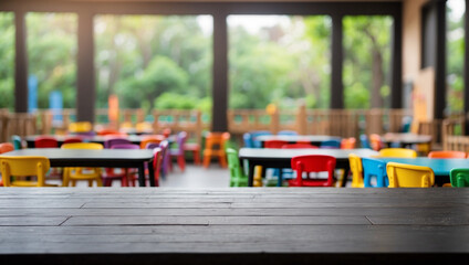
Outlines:
{"type": "Polygon", "coordinates": [[[344,108],[343,68],[343,15],[332,17],[332,74],[331,74],[331,108],[344,108]]]}

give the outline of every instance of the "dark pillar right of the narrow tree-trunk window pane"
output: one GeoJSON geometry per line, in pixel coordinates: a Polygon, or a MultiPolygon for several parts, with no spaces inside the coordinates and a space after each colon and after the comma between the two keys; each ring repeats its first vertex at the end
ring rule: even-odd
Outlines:
{"type": "MultiPolygon", "coordinates": [[[[399,3],[402,4],[402,3],[399,3]]],[[[394,15],[392,40],[390,108],[403,107],[403,15],[394,15]]],[[[407,95],[406,95],[407,96],[407,95]]]]}

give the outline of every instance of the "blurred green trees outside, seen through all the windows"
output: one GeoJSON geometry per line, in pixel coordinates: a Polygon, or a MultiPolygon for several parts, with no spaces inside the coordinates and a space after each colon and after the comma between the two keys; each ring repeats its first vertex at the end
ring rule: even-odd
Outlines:
{"type": "MultiPolygon", "coordinates": [[[[230,108],[265,108],[271,103],[280,108],[330,106],[330,17],[230,15],[228,25],[230,108]]],[[[39,108],[49,107],[52,91],[62,93],[64,108],[75,107],[76,26],[72,13],[27,14],[28,71],[38,80],[39,108]]],[[[392,26],[390,17],[343,19],[346,108],[389,106],[392,26]]],[[[114,94],[121,108],[210,113],[211,17],[103,14],[95,17],[94,29],[96,107],[105,108],[114,94]]],[[[462,17],[449,20],[448,32],[461,29],[462,17]]],[[[12,109],[11,12],[0,13],[0,108],[12,109]]],[[[460,110],[463,38],[448,35],[448,105],[460,110]]]]}

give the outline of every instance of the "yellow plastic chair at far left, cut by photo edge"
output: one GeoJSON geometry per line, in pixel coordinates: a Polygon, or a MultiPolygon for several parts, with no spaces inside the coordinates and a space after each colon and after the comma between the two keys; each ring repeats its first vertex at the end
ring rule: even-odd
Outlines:
{"type": "Polygon", "coordinates": [[[4,187],[56,187],[45,183],[45,173],[51,168],[46,157],[0,157],[0,171],[4,187]],[[35,180],[27,180],[35,176],[35,180]],[[13,178],[12,178],[13,177],[13,178]]]}

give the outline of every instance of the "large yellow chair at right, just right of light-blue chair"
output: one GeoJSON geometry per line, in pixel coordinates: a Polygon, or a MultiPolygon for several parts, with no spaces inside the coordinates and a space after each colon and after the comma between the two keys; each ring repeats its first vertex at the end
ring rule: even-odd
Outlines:
{"type": "Polygon", "coordinates": [[[386,166],[388,188],[430,188],[435,173],[429,167],[388,162],[386,166]]]}

